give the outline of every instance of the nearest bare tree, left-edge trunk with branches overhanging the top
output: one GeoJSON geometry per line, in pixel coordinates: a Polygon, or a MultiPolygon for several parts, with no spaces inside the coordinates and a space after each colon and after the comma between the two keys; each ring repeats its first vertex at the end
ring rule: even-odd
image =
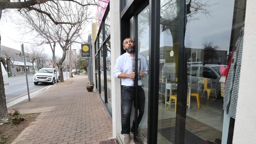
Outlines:
{"type": "MultiPolygon", "coordinates": [[[[24,0],[24,2],[20,2],[20,0],[0,0],[0,20],[2,17],[2,11],[5,9],[26,9],[28,11],[37,11],[38,13],[42,13],[46,15],[54,24],[72,24],[75,25],[72,21],[63,21],[62,19],[52,17],[52,14],[49,13],[49,11],[52,11],[55,7],[50,6],[50,4],[56,4],[59,2],[73,2],[75,4],[78,4],[80,6],[90,6],[90,5],[96,5],[96,2],[93,0],[93,2],[88,2],[84,4],[83,0],[24,0]],[[41,9],[41,5],[46,4],[49,7],[47,9],[41,9]]],[[[59,5],[58,8],[61,8],[59,5]]],[[[1,35],[0,35],[0,44],[1,44],[1,35]]],[[[1,50],[1,49],[0,49],[1,50]]],[[[4,80],[2,76],[2,68],[0,66],[0,118],[7,116],[7,107],[6,107],[6,95],[4,90],[4,80]]]]}

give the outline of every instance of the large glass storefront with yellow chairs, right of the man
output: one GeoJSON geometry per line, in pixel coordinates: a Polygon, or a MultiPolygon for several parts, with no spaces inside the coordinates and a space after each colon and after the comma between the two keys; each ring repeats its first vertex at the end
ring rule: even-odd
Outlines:
{"type": "Polygon", "coordinates": [[[245,20],[246,0],[160,0],[150,4],[121,0],[121,4],[121,42],[132,37],[137,54],[149,64],[148,77],[141,80],[145,113],[135,142],[202,144],[232,139],[223,132],[230,127],[223,127],[227,120],[220,79],[227,76],[245,20]],[[158,72],[150,71],[154,66],[158,72]],[[152,83],[155,74],[159,74],[158,85],[152,83]],[[156,97],[157,102],[150,102],[156,97]]]}

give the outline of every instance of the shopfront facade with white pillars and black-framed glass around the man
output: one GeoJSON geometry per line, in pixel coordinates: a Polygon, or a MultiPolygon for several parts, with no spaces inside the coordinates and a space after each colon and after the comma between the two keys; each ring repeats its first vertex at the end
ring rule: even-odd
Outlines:
{"type": "MultiPolygon", "coordinates": [[[[253,143],[256,114],[248,110],[256,108],[255,4],[99,0],[98,21],[92,24],[93,80],[113,122],[113,137],[122,133],[121,81],[113,70],[125,53],[123,39],[131,37],[135,55],[148,63],[148,76],[141,80],[145,111],[135,143],[253,143]],[[228,91],[230,83],[233,90],[228,91]]],[[[134,95],[131,122],[138,114],[137,90],[134,95]]]]}

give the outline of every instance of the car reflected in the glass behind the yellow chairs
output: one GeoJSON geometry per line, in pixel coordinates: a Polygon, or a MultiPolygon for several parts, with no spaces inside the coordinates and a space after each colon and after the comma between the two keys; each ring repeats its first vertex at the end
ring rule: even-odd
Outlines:
{"type": "Polygon", "coordinates": [[[217,97],[221,96],[221,83],[219,82],[221,74],[227,65],[191,65],[187,67],[187,79],[190,83],[197,83],[197,88],[191,91],[201,93],[203,90],[203,78],[211,80],[212,87],[216,89],[217,97]]]}

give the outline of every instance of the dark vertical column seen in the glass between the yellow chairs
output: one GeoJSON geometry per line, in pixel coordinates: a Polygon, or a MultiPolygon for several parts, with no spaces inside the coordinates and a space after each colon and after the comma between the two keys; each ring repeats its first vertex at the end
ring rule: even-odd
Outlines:
{"type": "Polygon", "coordinates": [[[178,88],[177,112],[174,144],[184,144],[186,109],[187,109],[187,62],[184,39],[186,33],[186,0],[179,0],[179,54],[178,54],[178,88]]]}

